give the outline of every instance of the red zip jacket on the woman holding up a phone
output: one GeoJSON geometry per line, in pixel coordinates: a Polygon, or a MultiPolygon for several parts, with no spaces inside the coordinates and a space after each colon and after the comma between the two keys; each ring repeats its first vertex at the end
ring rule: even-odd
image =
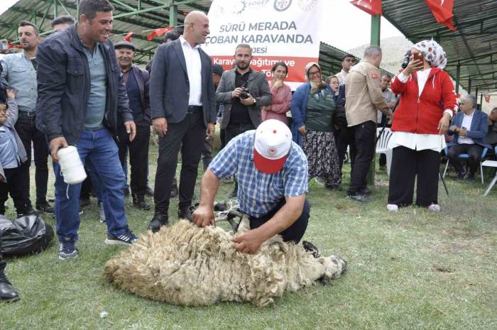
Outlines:
{"type": "Polygon", "coordinates": [[[390,87],[400,95],[400,101],[393,114],[392,131],[418,134],[437,134],[438,123],[445,110],[452,111],[456,103],[454,84],[449,74],[437,67],[432,68],[422,90],[417,87],[417,74],[412,73],[403,83],[395,77],[390,87]]]}

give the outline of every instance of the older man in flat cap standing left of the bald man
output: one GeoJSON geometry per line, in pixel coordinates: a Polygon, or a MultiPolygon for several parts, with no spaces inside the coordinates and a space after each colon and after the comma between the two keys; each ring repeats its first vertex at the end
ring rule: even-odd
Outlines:
{"type": "Polygon", "coordinates": [[[136,124],[136,136],[133,141],[129,141],[129,134],[123,123],[117,128],[116,144],[119,148],[119,160],[124,169],[126,163],[126,153],[129,150],[129,163],[131,165],[131,195],[133,206],[138,209],[150,209],[150,205],[145,202],[147,189],[147,163],[148,163],[148,143],[150,141],[150,99],[148,97],[148,71],[133,65],[135,55],[135,45],[126,40],[121,40],[114,44],[117,62],[124,75],[126,92],[129,99],[129,109],[133,114],[133,121],[136,124]]]}

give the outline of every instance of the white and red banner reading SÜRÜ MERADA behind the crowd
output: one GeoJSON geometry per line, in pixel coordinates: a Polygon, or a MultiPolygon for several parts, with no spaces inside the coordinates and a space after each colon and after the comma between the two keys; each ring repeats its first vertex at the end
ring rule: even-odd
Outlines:
{"type": "Polygon", "coordinates": [[[293,90],[305,82],[304,68],[320,55],[318,27],[324,0],[214,0],[210,35],[202,49],[214,65],[230,70],[236,45],[252,48],[253,70],[271,77],[275,62],[285,62],[285,82],[293,90]]]}

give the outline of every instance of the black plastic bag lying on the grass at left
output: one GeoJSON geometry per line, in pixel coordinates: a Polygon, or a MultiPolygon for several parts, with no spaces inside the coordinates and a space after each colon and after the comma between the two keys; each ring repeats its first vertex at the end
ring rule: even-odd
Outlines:
{"type": "Polygon", "coordinates": [[[39,253],[52,239],[52,226],[40,216],[23,216],[10,221],[0,214],[0,253],[4,256],[39,253]]]}

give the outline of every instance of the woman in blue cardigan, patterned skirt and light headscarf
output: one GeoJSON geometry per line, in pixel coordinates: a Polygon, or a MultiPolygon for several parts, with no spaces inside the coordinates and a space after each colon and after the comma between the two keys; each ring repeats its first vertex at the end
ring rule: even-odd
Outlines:
{"type": "Polygon", "coordinates": [[[316,62],[305,66],[307,83],[300,85],[290,103],[293,141],[307,156],[309,179],[320,177],[328,189],[339,189],[340,167],[333,136],[334,92],[321,78],[316,62]]]}

